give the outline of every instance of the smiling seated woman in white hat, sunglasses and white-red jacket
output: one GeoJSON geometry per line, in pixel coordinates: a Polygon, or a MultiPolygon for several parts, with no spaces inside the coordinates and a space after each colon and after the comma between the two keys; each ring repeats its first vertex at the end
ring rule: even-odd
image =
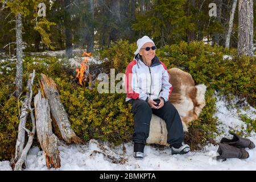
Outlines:
{"type": "Polygon", "coordinates": [[[167,68],[155,56],[155,43],[148,36],[138,39],[137,46],[134,60],[126,68],[126,101],[133,105],[134,114],[133,155],[137,159],[144,157],[152,113],[166,121],[172,154],[187,154],[190,148],[183,144],[179,113],[168,101],[172,85],[167,68]]]}

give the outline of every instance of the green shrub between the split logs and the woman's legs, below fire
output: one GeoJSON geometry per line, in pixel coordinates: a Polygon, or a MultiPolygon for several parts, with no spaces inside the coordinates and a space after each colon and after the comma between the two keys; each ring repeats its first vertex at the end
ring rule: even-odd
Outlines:
{"type": "Polygon", "coordinates": [[[125,94],[100,94],[57,78],[61,101],[75,133],[85,141],[95,138],[114,144],[128,142],[133,134],[131,106],[125,94]]]}

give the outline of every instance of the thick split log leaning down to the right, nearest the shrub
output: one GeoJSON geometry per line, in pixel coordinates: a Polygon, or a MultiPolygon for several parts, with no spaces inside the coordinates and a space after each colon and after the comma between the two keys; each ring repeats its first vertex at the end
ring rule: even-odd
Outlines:
{"type": "Polygon", "coordinates": [[[82,140],[76,136],[75,132],[71,128],[68,114],[66,113],[63,104],[60,102],[59,92],[55,82],[44,74],[41,74],[41,76],[40,86],[42,94],[49,101],[51,115],[53,117],[52,119],[55,119],[57,126],[59,127],[61,137],[67,143],[82,143],[82,140]]]}

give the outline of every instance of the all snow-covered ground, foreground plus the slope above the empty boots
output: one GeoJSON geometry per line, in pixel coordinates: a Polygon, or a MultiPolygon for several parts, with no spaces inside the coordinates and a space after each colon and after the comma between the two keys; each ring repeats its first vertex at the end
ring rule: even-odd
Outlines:
{"type": "MultiPolygon", "coordinates": [[[[236,99],[232,103],[234,105],[228,105],[224,97],[217,97],[215,116],[219,118],[218,129],[223,131],[221,136],[217,137],[217,141],[224,136],[232,138],[228,131],[230,129],[241,130],[242,125],[245,125],[234,107],[236,99]]],[[[240,112],[247,114],[250,118],[256,118],[256,109],[253,107],[241,108],[240,112]]],[[[249,139],[256,144],[255,133],[251,134],[249,139]]],[[[256,148],[246,149],[250,155],[247,159],[227,159],[225,162],[220,162],[212,159],[213,156],[218,155],[216,153],[218,146],[213,146],[213,144],[206,146],[204,150],[189,152],[185,155],[171,155],[168,147],[146,146],[144,149],[146,156],[142,160],[133,158],[133,143],[131,142],[126,143],[124,147],[121,145],[110,148],[108,143],[103,146],[104,150],[97,140],[90,140],[85,145],[60,143],[61,167],[50,170],[256,170],[256,148]],[[113,163],[113,158],[110,159],[108,156],[124,164],[113,163]]],[[[11,170],[9,162],[0,162],[0,170],[11,170]]],[[[45,156],[38,147],[31,148],[27,156],[26,170],[48,170],[45,156]]]]}

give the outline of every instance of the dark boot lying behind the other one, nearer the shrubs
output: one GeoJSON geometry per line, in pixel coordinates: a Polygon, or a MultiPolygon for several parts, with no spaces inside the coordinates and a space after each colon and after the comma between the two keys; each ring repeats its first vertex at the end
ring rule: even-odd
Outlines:
{"type": "Polygon", "coordinates": [[[250,139],[247,138],[242,138],[239,135],[235,133],[231,133],[234,137],[232,139],[228,138],[222,138],[220,143],[226,143],[229,144],[230,146],[238,147],[238,148],[254,148],[255,144],[251,142],[250,139]]]}

